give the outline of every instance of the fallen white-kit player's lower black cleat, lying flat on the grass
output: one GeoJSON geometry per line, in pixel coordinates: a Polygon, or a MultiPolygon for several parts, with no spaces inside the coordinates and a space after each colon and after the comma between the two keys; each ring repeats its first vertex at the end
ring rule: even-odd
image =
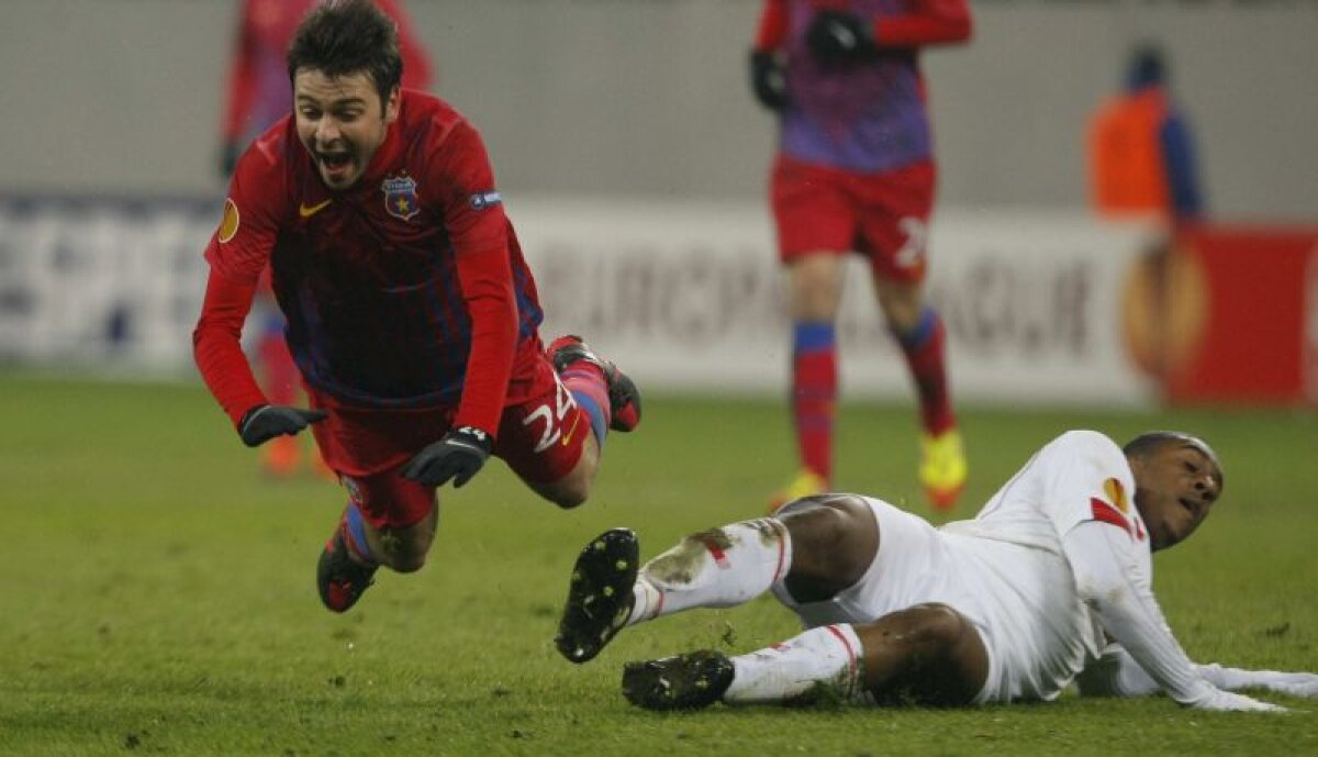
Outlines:
{"type": "Polygon", "coordinates": [[[646,710],[701,710],[722,698],[734,673],[733,661],[712,650],[629,662],[622,695],[646,710]]]}

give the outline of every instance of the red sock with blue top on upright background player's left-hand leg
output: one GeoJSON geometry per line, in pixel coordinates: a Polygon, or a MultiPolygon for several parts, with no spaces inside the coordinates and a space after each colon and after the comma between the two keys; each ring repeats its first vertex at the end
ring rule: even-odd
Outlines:
{"type": "Polygon", "coordinates": [[[792,344],[792,419],[801,464],[833,479],[837,344],[832,323],[797,323],[792,344]]]}

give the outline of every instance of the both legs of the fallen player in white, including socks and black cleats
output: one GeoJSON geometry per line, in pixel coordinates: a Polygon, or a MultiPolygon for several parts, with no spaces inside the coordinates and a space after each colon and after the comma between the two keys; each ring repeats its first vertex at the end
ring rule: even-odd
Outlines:
{"type": "MultiPolygon", "coordinates": [[[[559,651],[585,662],[637,622],[733,607],[771,588],[796,605],[824,603],[870,571],[879,529],[869,505],[825,496],[788,509],[780,518],[692,534],[639,568],[634,533],[601,534],[573,568],[555,638],[559,651]]],[[[623,692],[655,710],[793,702],[818,686],[879,702],[965,704],[986,675],[987,655],[969,621],[946,605],[921,604],[873,622],[813,628],[746,655],[697,651],[629,663],[623,692]]]]}

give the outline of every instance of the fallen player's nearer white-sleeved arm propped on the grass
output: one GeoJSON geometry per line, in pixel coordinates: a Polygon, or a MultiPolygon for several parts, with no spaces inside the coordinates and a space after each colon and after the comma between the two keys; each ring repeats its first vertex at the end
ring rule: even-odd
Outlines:
{"type": "MultiPolygon", "coordinates": [[[[1284,712],[1284,707],[1223,691],[1201,674],[1162,621],[1152,592],[1132,579],[1128,559],[1132,547],[1122,539],[1130,539],[1130,534],[1090,521],[1072,529],[1062,541],[1081,599],[1098,616],[1107,636],[1127,650],[1159,688],[1186,707],[1284,712]]],[[[1118,688],[1110,688],[1111,694],[1148,694],[1133,684],[1123,694],[1119,677],[1108,677],[1108,684],[1114,682],[1118,688]]],[[[1085,684],[1081,686],[1083,692],[1085,684]]]]}

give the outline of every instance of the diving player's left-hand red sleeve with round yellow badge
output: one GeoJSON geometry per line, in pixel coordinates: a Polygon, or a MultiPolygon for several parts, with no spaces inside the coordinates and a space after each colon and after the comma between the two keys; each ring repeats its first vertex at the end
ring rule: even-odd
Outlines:
{"type": "Polygon", "coordinates": [[[269,138],[258,140],[244,153],[224,200],[220,226],[206,247],[211,273],[202,315],[192,330],[192,357],[235,426],[244,413],[268,401],[240,340],[286,202],[281,199],[281,165],[269,138]]]}

